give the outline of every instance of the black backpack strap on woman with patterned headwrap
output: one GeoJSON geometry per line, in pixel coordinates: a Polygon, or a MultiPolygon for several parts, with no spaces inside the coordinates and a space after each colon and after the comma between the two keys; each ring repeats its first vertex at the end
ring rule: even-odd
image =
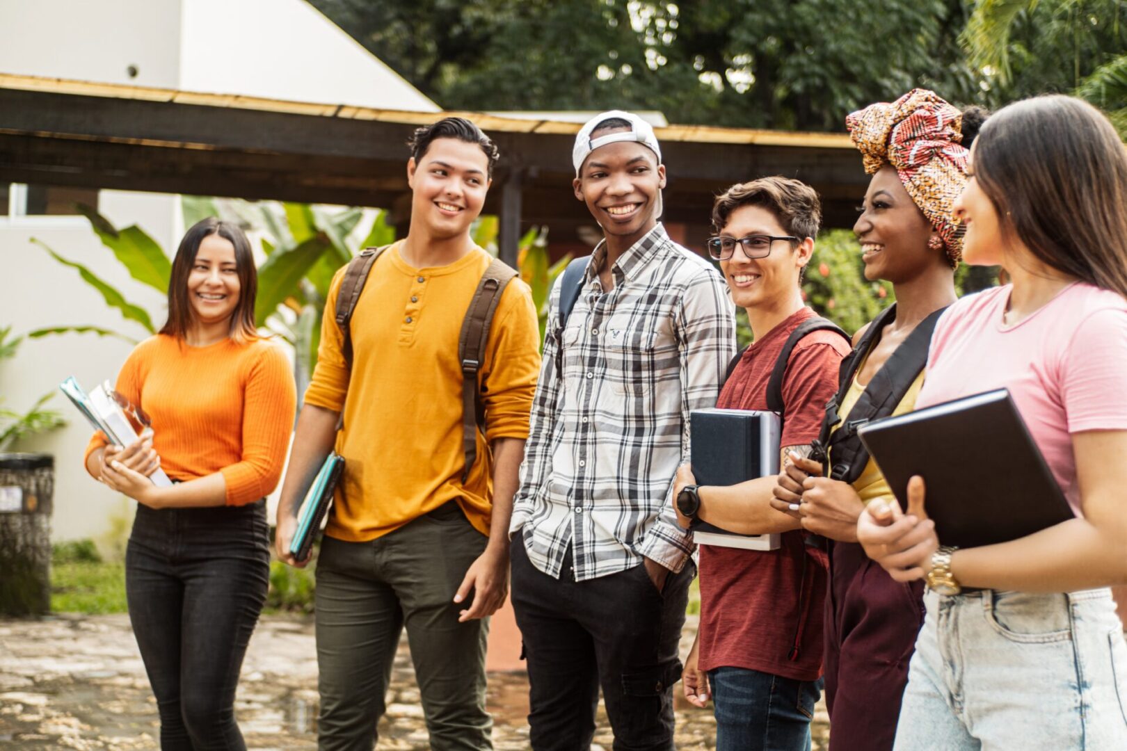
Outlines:
{"type": "MultiPolygon", "coordinates": [[[[850,409],[849,420],[829,437],[828,449],[833,458],[829,476],[834,480],[853,482],[861,476],[869,463],[869,452],[858,438],[857,431],[872,420],[891,414],[908,393],[912,384],[928,365],[931,334],[935,331],[935,323],[944,310],[947,309],[934,311],[913,329],[907,339],[872,376],[857,403],[850,409]]],[[[876,322],[872,328],[876,328],[876,322]]],[[[853,372],[855,373],[857,368],[853,372]]],[[[838,393],[843,394],[848,390],[846,383],[838,393]]]]}

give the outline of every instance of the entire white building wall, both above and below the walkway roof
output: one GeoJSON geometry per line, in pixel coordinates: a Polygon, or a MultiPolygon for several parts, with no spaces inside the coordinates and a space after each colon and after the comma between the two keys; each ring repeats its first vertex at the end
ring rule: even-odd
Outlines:
{"type": "MultiPolygon", "coordinates": [[[[437,111],[387,65],[304,0],[0,0],[0,72],[131,83],[189,91],[437,111]],[[135,65],[137,74],[126,72],[135,65]]],[[[171,256],[184,233],[176,196],[103,191],[99,208],[117,226],[139,224],[171,256]]],[[[165,299],[134,281],[80,217],[0,216],[0,327],[16,333],[65,324],[147,336],[106,306],[73,269],[32,236],[104,278],[145,307],[159,327],[165,299]]],[[[131,345],[94,334],[25,341],[0,361],[0,400],[26,410],[73,375],[83,386],[115,379],[131,345]]],[[[132,503],[81,467],[90,431],[61,394],[70,420],[21,450],[55,455],[53,537],[98,538],[132,503]]]]}

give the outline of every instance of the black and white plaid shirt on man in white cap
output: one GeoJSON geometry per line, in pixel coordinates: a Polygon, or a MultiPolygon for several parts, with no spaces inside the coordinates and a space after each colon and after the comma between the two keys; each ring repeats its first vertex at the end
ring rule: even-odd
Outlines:
{"type": "Polygon", "coordinates": [[[668,497],[689,461],[689,412],[716,404],[736,351],[724,277],[662,224],[615,261],[614,288],[604,293],[605,254],[595,250],[562,333],[559,285],[552,289],[509,526],[551,576],[571,545],[577,581],[642,556],[673,571],[684,565],[692,536],[668,497]]]}

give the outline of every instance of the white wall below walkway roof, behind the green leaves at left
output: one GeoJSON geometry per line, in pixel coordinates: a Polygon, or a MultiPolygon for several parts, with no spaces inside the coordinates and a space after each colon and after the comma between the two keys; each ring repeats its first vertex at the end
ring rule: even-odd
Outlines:
{"type": "MultiPolygon", "coordinates": [[[[179,200],[175,196],[105,190],[99,208],[117,226],[137,224],[166,250],[180,234],[179,200]]],[[[101,296],[46,251],[30,242],[36,238],[60,256],[82,263],[113,285],[132,303],[149,311],[154,325],[165,320],[165,297],[134,281],[80,217],[0,218],[0,325],[11,324],[17,334],[54,325],[98,325],[134,339],[145,330],[108,307],[101,296]]],[[[171,245],[175,249],[175,245],[171,245]]],[[[169,251],[170,252],[170,251],[169,251]]],[[[53,334],[25,339],[14,359],[0,361],[0,397],[11,410],[25,411],[39,396],[54,392],[51,406],[69,421],[68,427],[23,441],[19,450],[46,452],[55,456],[55,539],[105,536],[114,517],[132,512],[132,502],[94,482],[82,470],[82,453],[90,429],[70,402],[57,393],[59,383],[74,376],[85,387],[117,378],[117,370],[132,345],[95,334],[53,334]]]]}

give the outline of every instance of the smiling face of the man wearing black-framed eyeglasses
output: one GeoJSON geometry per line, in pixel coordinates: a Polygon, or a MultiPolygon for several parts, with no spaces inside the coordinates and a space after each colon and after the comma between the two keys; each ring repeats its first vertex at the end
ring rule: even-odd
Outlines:
{"type": "MultiPolygon", "coordinates": [[[[779,223],[774,212],[763,206],[733,209],[719,232],[721,238],[734,240],[756,234],[781,236],[791,233],[779,223]]],[[[790,302],[797,294],[802,267],[810,262],[813,252],[810,238],[800,243],[775,240],[771,243],[771,253],[763,258],[748,258],[737,242],[731,258],[720,261],[733,302],[745,309],[774,307],[790,302]]]]}

